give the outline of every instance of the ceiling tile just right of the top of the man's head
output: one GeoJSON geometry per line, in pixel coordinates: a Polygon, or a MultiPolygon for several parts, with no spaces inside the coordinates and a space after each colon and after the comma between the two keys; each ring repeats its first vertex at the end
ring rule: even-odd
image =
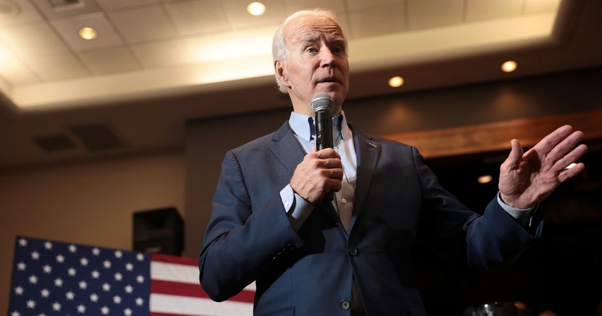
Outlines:
{"type": "Polygon", "coordinates": [[[399,33],[405,29],[403,5],[349,13],[354,39],[399,33]]]}

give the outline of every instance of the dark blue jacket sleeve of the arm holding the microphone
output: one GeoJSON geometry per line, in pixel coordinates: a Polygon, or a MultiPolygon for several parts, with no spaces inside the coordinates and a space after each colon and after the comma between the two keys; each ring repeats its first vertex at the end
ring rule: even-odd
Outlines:
{"type": "Polygon", "coordinates": [[[303,245],[279,190],[270,194],[252,201],[237,156],[226,153],[199,255],[200,283],[211,299],[234,296],[283,253],[303,245]]]}

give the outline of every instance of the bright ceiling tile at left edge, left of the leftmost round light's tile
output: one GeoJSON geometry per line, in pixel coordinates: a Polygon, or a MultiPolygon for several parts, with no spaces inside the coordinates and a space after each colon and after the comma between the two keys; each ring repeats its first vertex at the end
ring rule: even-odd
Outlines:
{"type": "Polygon", "coordinates": [[[67,46],[45,22],[2,27],[0,37],[17,55],[23,57],[69,52],[67,46]]]}

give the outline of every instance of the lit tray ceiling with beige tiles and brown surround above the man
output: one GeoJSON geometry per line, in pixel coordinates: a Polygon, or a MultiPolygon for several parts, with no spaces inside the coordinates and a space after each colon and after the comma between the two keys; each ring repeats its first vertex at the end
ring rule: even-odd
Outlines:
{"type": "Polygon", "coordinates": [[[0,169],[181,149],[187,119],[288,107],[271,40],[303,8],[337,13],[349,98],[602,64],[600,0],[249,2],[0,0],[0,169]]]}

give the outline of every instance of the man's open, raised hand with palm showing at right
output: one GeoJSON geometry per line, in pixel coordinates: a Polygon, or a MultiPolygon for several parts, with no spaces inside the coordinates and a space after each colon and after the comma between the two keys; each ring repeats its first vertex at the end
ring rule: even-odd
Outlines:
{"type": "Polygon", "coordinates": [[[500,167],[499,189],[504,203],[519,209],[531,208],[562,182],[582,172],[583,163],[566,169],[588,151],[585,144],[577,146],[582,138],[583,132],[573,132],[573,127],[565,125],[525,153],[518,140],[512,140],[510,155],[500,167]]]}

